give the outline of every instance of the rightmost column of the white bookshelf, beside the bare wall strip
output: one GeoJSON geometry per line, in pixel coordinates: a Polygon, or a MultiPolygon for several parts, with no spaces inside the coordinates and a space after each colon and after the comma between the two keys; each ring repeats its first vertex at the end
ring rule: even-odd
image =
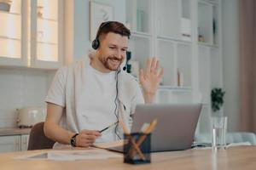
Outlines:
{"type": "MultiPolygon", "coordinates": [[[[221,0],[198,1],[198,34],[205,42],[198,42],[199,89],[202,96],[198,132],[210,133],[212,112],[212,88],[223,88],[222,37],[221,37],[221,0]]],[[[223,110],[220,111],[223,114],[223,110]]],[[[218,113],[219,114],[219,113],[218,113]]]]}

